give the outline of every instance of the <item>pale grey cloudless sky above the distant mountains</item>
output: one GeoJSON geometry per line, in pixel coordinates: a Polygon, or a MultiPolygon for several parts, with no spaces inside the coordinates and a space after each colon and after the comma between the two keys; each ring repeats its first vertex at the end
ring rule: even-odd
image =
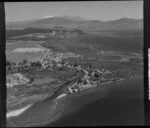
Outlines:
{"type": "Polygon", "coordinates": [[[6,22],[64,15],[101,21],[140,19],[143,1],[5,2],[5,15],[6,22]]]}

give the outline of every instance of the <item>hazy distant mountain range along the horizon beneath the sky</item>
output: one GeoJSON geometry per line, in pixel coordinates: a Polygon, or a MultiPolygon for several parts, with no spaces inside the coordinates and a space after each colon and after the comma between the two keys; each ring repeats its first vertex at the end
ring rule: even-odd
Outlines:
{"type": "Polygon", "coordinates": [[[79,27],[82,30],[140,30],[143,29],[143,19],[122,18],[102,22],[99,20],[87,20],[79,16],[54,16],[31,21],[8,22],[6,29],[24,28],[53,28],[64,26],[67,28],[79,27]]]}

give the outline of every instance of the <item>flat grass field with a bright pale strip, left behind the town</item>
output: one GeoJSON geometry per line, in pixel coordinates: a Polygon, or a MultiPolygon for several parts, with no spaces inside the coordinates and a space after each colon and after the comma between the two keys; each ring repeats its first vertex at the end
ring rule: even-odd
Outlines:
{"type": "Polygon", "coordinates": [[[9,42],[6,45],[6,59],[16,63],[23,61],[25,58],[28,60],[37,60],[40,56],[40,51],[48,50],[41,47],[40,43],[36,41],[9,42]]]}

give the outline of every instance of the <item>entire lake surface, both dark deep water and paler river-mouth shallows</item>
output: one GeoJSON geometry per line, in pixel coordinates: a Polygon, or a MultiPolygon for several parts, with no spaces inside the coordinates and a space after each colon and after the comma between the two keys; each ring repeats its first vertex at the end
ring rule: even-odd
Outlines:
{"type": "Polygon", "coordinates": [[[144,124],[143,77],[101,85],[57,100],[47,98],[8,126],[109,126],[144,124]]]}

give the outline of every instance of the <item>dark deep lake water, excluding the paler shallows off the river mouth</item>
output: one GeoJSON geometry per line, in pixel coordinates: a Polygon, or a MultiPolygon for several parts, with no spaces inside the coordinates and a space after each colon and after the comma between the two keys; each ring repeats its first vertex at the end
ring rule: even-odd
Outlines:
{"type": "Polygon", "coordinates": [[[65,110],[67,114],[46,126],[144,124],[142,77],[104,86],[91,93],[70,96],[65,110]]]}

